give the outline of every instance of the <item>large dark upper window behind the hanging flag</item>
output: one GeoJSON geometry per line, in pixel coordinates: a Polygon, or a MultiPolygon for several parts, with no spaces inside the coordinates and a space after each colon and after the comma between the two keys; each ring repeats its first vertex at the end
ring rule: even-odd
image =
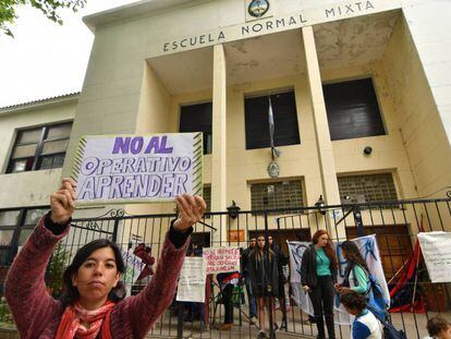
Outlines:
{"type": "MultiPolygon", "coordinates": [[[[275,94],[270,97],[275,119],[275,145],[300,144],[294,92],[275,94]]],[[[244,100],[244,110],[246,149],[270,147],[269,96],[246,98],[244,100]]]]}

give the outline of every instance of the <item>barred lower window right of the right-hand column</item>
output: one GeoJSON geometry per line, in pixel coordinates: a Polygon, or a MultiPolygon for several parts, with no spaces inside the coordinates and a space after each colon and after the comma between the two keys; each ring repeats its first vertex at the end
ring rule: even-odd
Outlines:
{"type": "Polygon", "coordinates": [[[339,177],[338,184],[342,202],[370,203],[398,199],[391,173],[339,177]]]}

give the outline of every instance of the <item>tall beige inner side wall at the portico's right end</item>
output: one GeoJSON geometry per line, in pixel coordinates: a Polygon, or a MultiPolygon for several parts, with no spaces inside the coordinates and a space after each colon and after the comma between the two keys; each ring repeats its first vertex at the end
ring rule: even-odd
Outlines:
{"type": "Polygon", "coordinates": [[[440,189],[451,181],[450,144],[404,20],[394,29],[382,64],[418,196],[442,197],[440,189]]]}

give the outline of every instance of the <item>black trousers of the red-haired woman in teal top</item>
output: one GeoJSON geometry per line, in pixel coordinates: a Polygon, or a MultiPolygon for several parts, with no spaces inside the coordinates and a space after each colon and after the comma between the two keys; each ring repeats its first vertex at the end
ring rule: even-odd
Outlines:
{"type": "Polygon", "coordinates": [[[326,338],[325,319],[327,331],[330,339],[336,338],[336,328],[333,324],[333,279],[331,276],[318,277],[317,286],[309,293],[315,312],[316,327],[318,328],[318,338],[326,338]],[[322,317],[324,315],[324,317],[322,317]]]}

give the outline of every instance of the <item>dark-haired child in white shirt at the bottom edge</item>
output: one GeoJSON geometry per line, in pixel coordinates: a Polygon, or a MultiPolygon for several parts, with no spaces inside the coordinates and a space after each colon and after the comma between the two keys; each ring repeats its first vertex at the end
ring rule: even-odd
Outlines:
{"type": "Polygon", "coordinates": [[[365,295],[348,291],[341,295],[340,301],[348,313],[355,316],[352,324],[352,339],[382,339],[382,325],[366,308],[365,295]]]}

